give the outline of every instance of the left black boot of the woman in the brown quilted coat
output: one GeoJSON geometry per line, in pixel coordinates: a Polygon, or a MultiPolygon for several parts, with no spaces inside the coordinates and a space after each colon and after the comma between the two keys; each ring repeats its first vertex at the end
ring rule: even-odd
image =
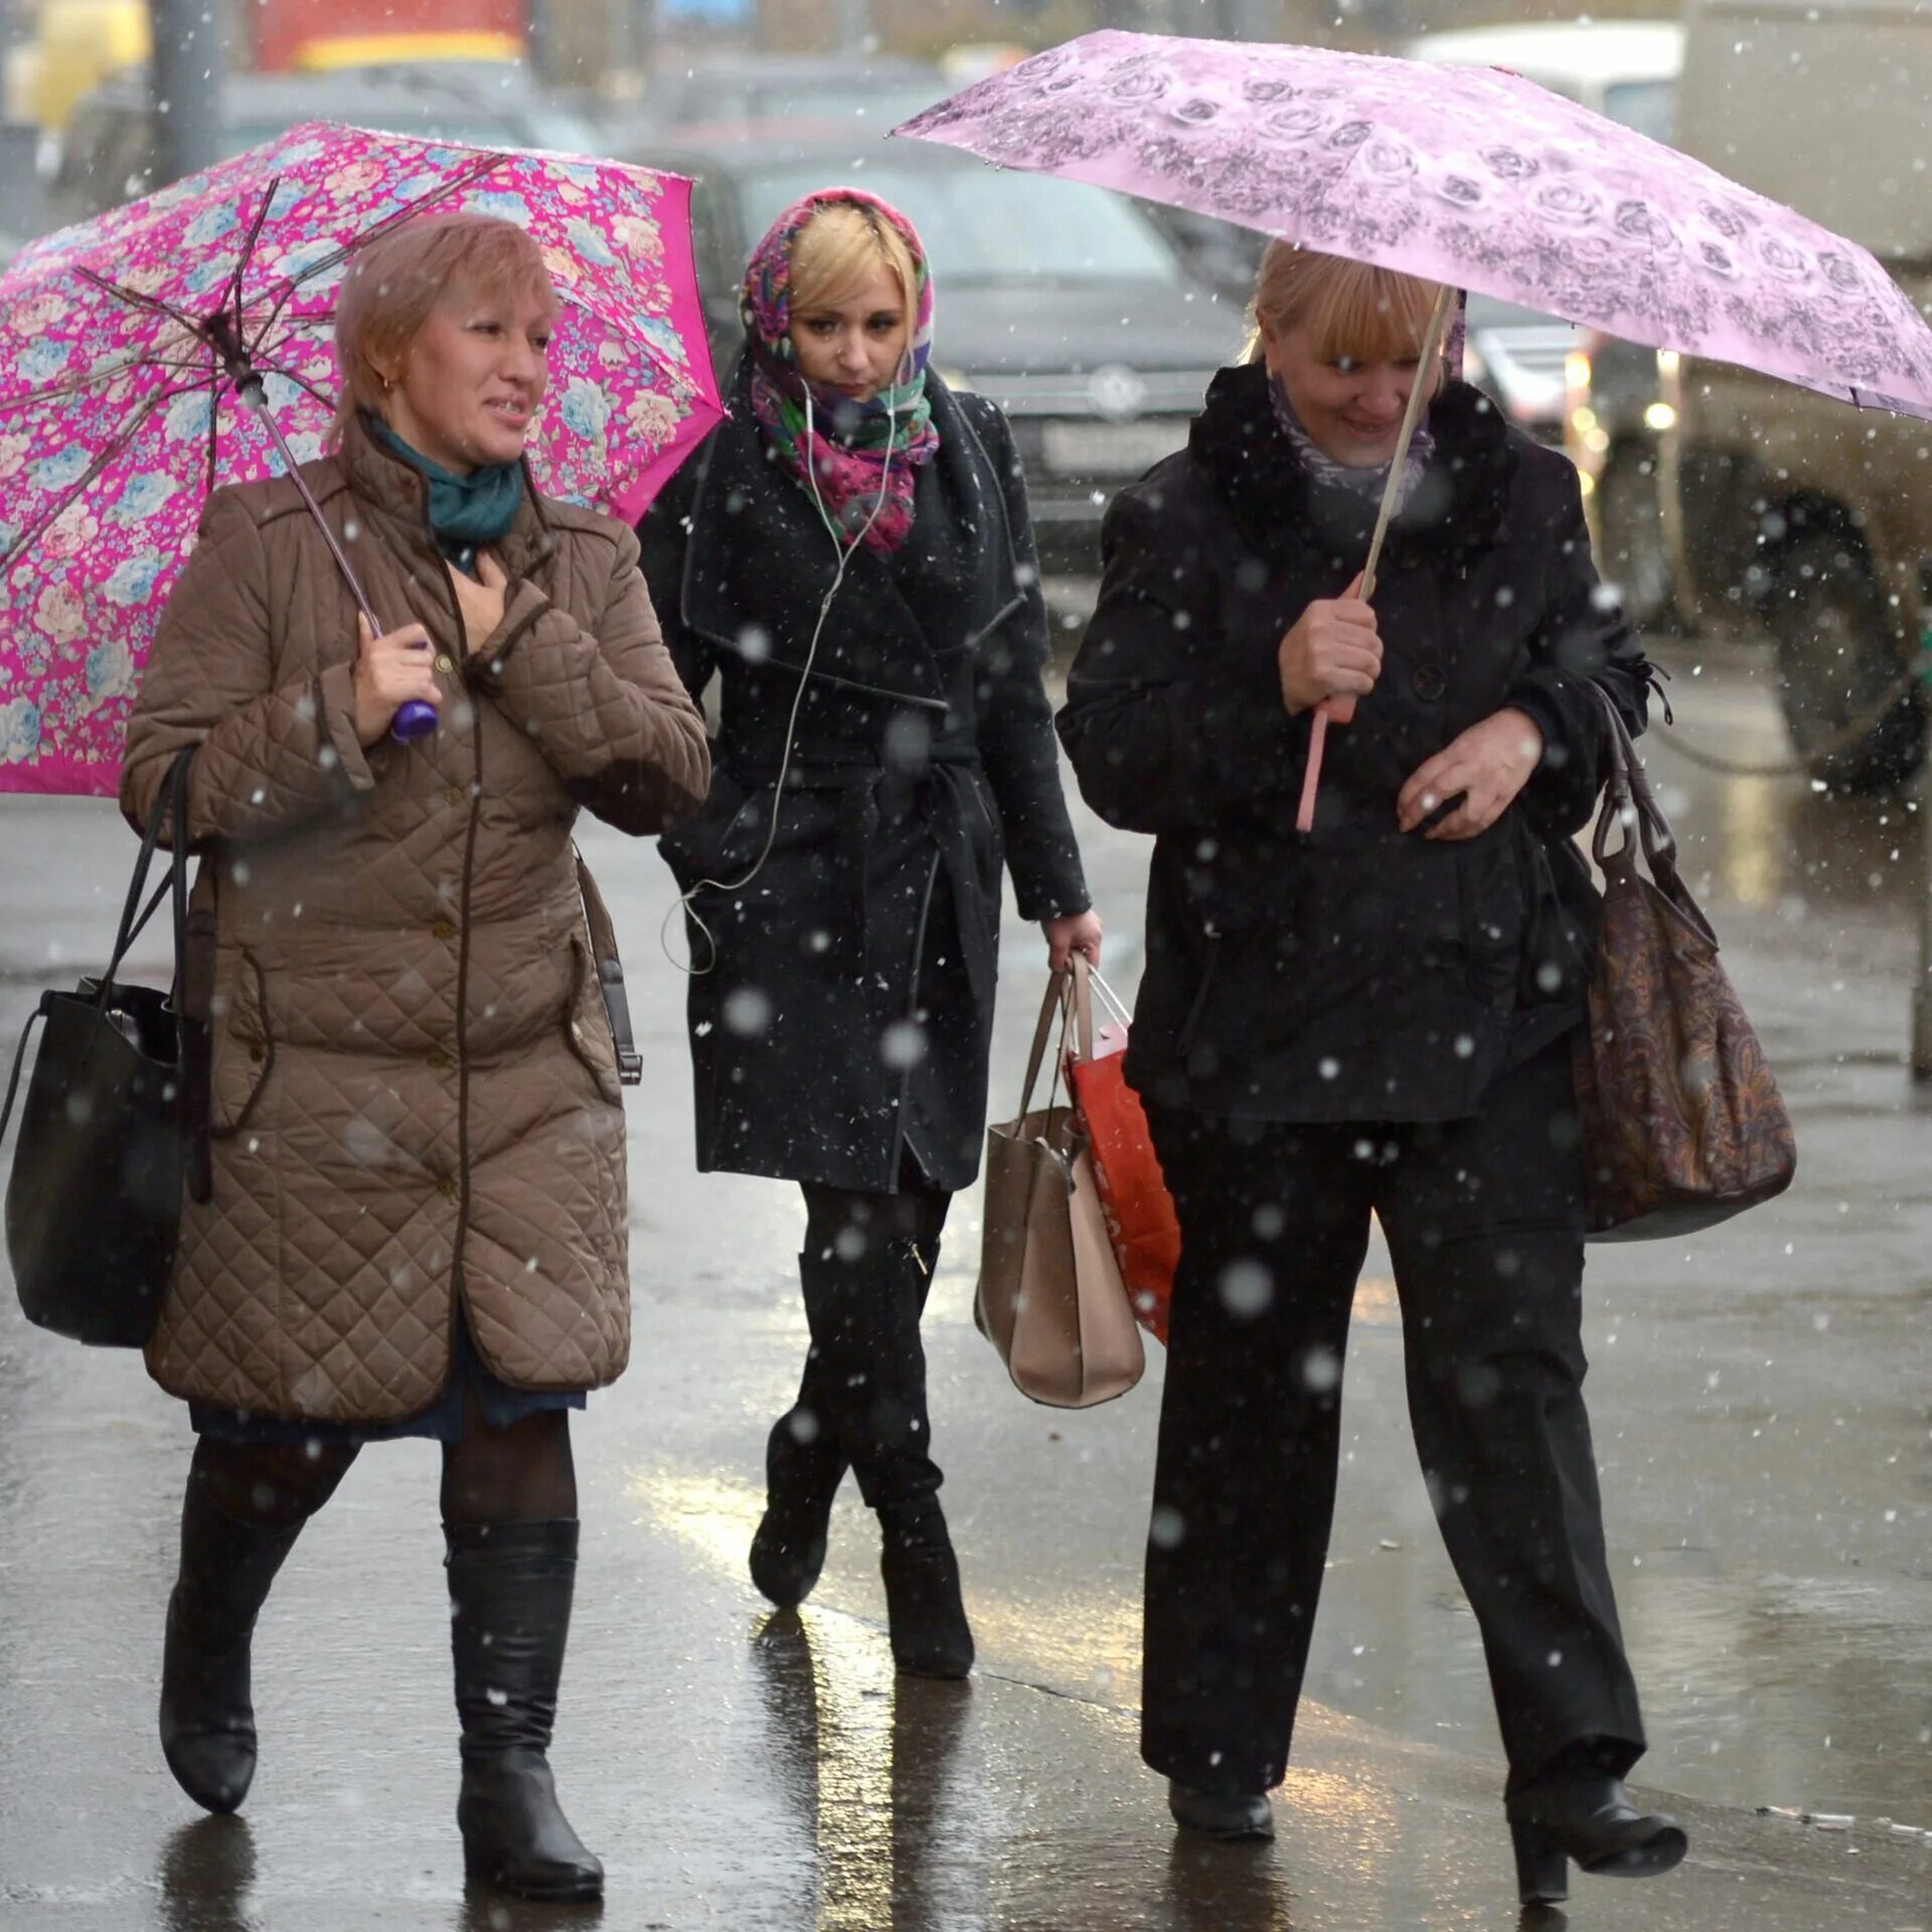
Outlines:
{"type": "Polygon", "coordinates": [[[255,1617],[301,1524],[242,1522],[189,1478],[182,1575],[160,1658],[160,1750],[205,1810],[232,1812],[255,1777],[249,1648],[255,1617]]]}

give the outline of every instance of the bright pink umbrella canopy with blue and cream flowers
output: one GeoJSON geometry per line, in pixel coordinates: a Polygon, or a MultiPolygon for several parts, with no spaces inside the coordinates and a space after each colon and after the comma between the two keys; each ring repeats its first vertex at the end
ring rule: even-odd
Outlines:
{"type": "Polygon", "coordinates": [[[562,298],[543,489],[636,518],[723,419],[690,182],[311,122],[33,243],[0,276],[0,792],[112,792],[209,491],[323,452],[355,249],[527,228],[562,298]]]}

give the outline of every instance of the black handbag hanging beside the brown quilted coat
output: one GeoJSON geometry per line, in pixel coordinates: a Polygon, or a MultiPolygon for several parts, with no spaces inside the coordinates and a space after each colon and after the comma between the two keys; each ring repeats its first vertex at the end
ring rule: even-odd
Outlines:
{"type": "Polygon", "coordinates": [[[174,1267],[182,1190],[207,1200],[205,1028],[184,1016],[191,976],[187,933],[187,767],[168,771],[141,840],[114,956],[99,980],[46,991],[14,1053],[0,1136],[14,1113],[35,1022],[44,1020],[21,1105],[6,1190],[6,1248],[29,1321],[108,1349],[139,1349],[155,1333],[174,1267]],[[168,877],[143,906],[162,825],[176,827],[168,877]],[[174,987],[122,985],[120,964],[141,927],[174,900],[174,987]]]}

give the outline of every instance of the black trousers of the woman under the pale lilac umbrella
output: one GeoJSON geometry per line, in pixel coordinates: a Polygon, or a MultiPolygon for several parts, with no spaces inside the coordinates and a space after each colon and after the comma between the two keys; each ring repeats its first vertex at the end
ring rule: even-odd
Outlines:
{"type": "Polygon", "coordinates": [[[1289,1762],[1327,1559],[1349,1310],[1374,1211],[1408,1416],[1482,1629],[1511,1787],[1642,1754],[1582,1405],[1582,1163],[1567,1039],[1482,1119],[1289,1126],[1153,1111],[1180,1217],[1142,1754],[1208,1791],[1289,1762]]]}

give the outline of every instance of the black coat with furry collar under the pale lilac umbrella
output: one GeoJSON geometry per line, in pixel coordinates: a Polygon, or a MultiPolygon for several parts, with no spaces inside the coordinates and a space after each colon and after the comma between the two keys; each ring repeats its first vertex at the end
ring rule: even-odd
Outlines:
{"type": "Polygon", "coordinates": [[[1153,1101],[1262,1121],[1449,1121],[1582,1018],[1602,717],[1642,730],[1642,651],[1598,583],[1577,471],[1466,384],[1383,549],[1381,676],[1331,726],[1316,829],[1310,715],[1277,645],[1368,556],[1376,504],[1316,483],[1267,371],[1223,369],[1188,448],[1109,508],[1099,607],[1061,738],[1109,823],[1155,835],[1126,1072],[1153,1101]],[[1408,775],[1505,705],[1544,759],[1486,833],[1395,823],[1408,775]]]}

